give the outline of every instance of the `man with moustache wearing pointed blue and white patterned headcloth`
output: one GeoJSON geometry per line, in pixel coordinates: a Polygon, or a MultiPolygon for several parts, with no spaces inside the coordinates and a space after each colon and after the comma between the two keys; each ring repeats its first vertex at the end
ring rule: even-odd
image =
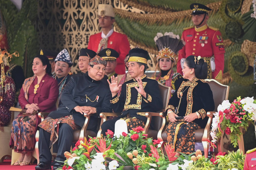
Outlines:
{"type": "Polygon", "coordinates": [[[58,82],[59,86],[59,97],[57,100],[56,106],[60,106],[61,101],[60,101],[60,95],[62,92],[62,89],[64,86],[67,84],[70,75],[68,74],[71,70],[71,66],[73,65],[70,55],[66,49],[63,49],[58,53],[55,61],[55,69],[54,69],[54,75],[52,76],[55,78],[58,82]]]}

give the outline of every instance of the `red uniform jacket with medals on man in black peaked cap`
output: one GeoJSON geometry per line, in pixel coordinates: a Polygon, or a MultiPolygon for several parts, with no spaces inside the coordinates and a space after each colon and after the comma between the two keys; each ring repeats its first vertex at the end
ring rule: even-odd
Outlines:
{"type": "Polygon", "coordinates": [[[200,28],[191,27],[185,29],[182,38],[186,45],[179,51],[177,72],[182,74],[180,60],[190,55],[215,58],[215,71],[212,72],[212,78],[216,78],[220,70],[224,69],[224,43],[220,31],[215,28],[204,25],[200,28]]]}

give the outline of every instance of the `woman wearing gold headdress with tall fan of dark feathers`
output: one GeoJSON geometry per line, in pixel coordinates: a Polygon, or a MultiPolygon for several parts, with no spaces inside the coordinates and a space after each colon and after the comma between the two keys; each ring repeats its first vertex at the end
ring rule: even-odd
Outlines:
{"type": "Polygon", "coordinates": [[[179,39],[179,35],[175,35],[172,32],[169,33],[157,33],[154,37],[154,41],[158,47],[158,56],[156,69],[160,68],[160,74],[154,78],[161,84],[171,87],[171,96],[175,90],[179,87],[183,78],[182,75],[172,70],[175,64],[176,53],[182,49],[184,44],[179,39]]]}

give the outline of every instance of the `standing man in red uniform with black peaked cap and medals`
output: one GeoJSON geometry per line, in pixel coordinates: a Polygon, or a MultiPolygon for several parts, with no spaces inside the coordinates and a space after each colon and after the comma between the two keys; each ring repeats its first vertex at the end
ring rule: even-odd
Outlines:
{"type": "Polygon", "coordinates": [[[185,28],[182,39],[186,45],[179,51],[177,72],[182,74],[184,59],[190,55],[201,56],[208,65],[208,77],[222,80],[224,69],[224,43],[218,29],[209,27],[206,22],[212,9],[202,4],[190,5],[192,21],[195,26],[185,28]]]}

